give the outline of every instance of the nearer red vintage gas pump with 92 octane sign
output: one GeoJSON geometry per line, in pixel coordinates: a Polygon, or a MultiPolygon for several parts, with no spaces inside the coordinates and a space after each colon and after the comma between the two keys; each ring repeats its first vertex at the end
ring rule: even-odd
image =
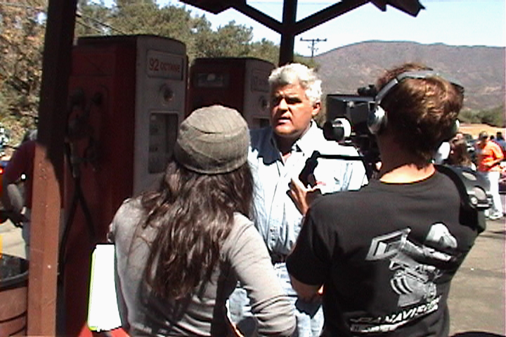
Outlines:
{"type": "Polygon", "coordinates": [[[72,51],[60,248],[65,336],[86,326],[90,258],[124,199],[150,187],[171,157],[185,115],[181,41],[150,35],[85,37],[72,51]]]}

